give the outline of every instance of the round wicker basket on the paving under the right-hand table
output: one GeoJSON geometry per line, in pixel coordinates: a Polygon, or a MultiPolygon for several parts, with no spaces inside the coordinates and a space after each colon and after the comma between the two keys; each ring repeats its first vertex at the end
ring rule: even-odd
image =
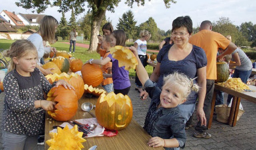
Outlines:
{"type": "MultiPolygon", "coordinates": [[[[215,112],[217,114],[217,121],[222,123],[228,123],[228,117],[230,114],[230,107],[228,105],[217,105],[215,106],[215,112]]],[[[244,114],[244,110],[239,109],[238,115],[237,115],[237,121],[239,118],[244,114]]]]}

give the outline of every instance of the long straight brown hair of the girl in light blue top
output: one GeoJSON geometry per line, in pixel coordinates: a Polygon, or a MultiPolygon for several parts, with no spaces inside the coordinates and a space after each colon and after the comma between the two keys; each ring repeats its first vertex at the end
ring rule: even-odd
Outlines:
{"type": "Polygon", "coordinates": [[[40,32],[44,41],[54,43],[55,26],[58,26],[58,21],[53,16],[44,16],[44,18],[42,18],[38,32],[40,32]]]}

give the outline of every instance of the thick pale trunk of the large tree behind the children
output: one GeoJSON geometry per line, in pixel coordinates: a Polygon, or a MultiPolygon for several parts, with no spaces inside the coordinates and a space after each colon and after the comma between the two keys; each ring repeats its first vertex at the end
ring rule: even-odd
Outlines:
{"type": "Polygon", "coordinates": [[[98,12],[97,14],[93,15],[92,20],[92,30],[91,30],[91,39],[90,39],[90,47],[88,51],[96,51],[97,45],[98,45],[98,38],[97,35],[99,34],[100,28],[101,28],[101,22],[103,20],[104,14],[106,14],[106,10],[102,10],[98,12]]]}

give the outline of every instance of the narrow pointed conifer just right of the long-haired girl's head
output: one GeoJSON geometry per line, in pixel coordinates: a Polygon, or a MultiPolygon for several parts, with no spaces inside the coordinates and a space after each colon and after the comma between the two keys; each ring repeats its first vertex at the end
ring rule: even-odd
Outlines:
{"type": "Polygon", "coordinates": [[[60,18],[60,24],[58,25],[56,35],[62,37],[63,40],[67,40],[68,25],[64,12],[62,12],[62,17],[60,18]]]}

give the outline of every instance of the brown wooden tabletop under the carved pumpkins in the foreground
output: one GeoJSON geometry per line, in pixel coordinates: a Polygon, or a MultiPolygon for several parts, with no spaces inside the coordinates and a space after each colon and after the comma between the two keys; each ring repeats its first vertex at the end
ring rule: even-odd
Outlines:
{"type": "MultiPolygon", "coordinates": [[[[97,98],[81,98],[78,101],[78,110],[76,115],[71,120],[92,118],[88,112],[84,112],[81,108],[82,103],[91,102],[96,104],[97,98]]],[[[91,110],[95,114],[95,110],[91,110]]],[[[63,122],[54,121],[49,123],[50,116],[46,113],[45,121],[45,141],[50,139],[49,131],[52,130],[53,126],[58,126],[63,122]]],[[[69,120],[69,121],[71,121],[69,120]]],[[[85,138],[86,142],[82,143],[84,145],[84,150],[88,150],[90,147],[97,145],[98,150],[164,150],[164,148],[152,148],[147,145],[148,140],[151,136],[134,120],[130,122],[127,128],[118,131],[118,134],[113,137],[92,137],[85,138]]],[[[45,143],[44,149],[47,150],[49,146],[45,143]]]]}

